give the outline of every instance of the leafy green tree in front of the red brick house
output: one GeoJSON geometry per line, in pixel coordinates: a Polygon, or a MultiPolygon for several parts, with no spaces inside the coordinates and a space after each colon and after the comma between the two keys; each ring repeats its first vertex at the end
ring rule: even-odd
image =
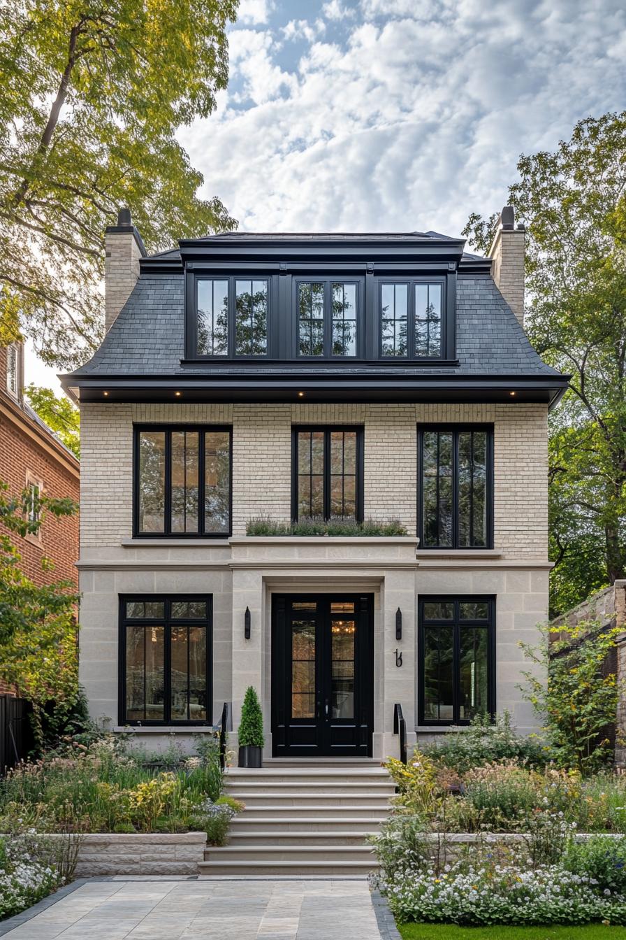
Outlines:
{"type": "MultiPolygon", "coordinates": [[[[28,490],[11,496],[0,481],[0,676],[32,703],[38,746],[46,726],[61,726],[79,700],[79,598],[69,581],[38,587],[23,573],[14,540],[36,535],[47,512],[61,518],[76,509],[70,499],[28,490]]],[[[50,559],[42,558],[41,569],[51,575],[50,559]]]]}

